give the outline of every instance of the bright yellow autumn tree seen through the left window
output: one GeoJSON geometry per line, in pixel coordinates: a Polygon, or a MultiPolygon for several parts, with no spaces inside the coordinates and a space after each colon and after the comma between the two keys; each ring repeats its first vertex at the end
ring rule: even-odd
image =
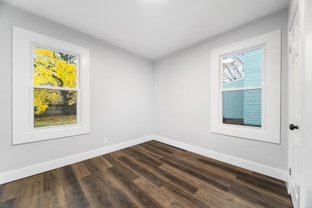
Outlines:
{"type": "MultiPolygon", "coordinates": [[[[34,84],[76,88],[77,56],[34,46],[34,84]]],[[[43,113],[51,104],[73,108],[77,92],[56,89],[34,89],[35,113],[43,113]]]]}

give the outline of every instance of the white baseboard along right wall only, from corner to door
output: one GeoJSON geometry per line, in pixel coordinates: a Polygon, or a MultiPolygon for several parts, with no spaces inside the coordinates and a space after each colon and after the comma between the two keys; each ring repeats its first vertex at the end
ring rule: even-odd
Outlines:
{"type": "Polygon", "coordinates": [[[194,153],[210,157],[225,163],[229,163],[231,165],[238,166],[247,170],[252,170],[254,172],[258,172],[273,178],[277,178],[279,180],[287,181],[287,172],[284,170],[275,169],[269,166],[261,165],[248,160],[239,159],[215,151],[206,150],[200,147],[195,147],[189,144],[177,142],[175,140],[167,139],[156,135],[154,135],[154,140],[168,145],[172,145],[177,148],[181,148],[183,150],[192,151],[194,153]]]}

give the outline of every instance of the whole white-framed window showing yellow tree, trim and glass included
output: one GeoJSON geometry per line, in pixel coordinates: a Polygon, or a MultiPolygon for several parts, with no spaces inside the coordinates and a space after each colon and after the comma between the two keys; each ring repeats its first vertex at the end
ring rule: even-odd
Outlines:
{"type": "Polygon", "coordinates": [[[85,134],[89,50],[13,26],[13,144],[85,134]]]}

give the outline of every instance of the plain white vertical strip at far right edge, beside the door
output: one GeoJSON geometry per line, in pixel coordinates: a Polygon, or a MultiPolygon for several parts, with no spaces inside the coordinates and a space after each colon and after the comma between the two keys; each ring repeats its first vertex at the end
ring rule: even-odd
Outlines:
{"type": "Polygon", "coordinates": [[[312,1],[299,0],[300,6],[300,21],[301,21],[301,37],[302,37],[302,152],[301,152],[301,194],[300,207],[312,207],[312,1]]]}

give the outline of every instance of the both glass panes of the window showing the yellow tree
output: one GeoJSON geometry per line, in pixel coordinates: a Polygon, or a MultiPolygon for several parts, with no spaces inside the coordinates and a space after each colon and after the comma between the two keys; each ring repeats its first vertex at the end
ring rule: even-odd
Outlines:
{"type": "Polygon", "coordinates": [[[77,56],[33,46],[34,128],[77,124],[77,56]],[[58,89],[55,89],[58,87],[58,89]]]}

